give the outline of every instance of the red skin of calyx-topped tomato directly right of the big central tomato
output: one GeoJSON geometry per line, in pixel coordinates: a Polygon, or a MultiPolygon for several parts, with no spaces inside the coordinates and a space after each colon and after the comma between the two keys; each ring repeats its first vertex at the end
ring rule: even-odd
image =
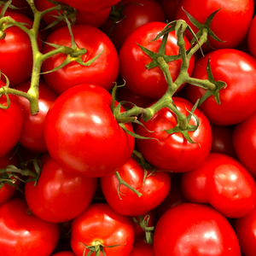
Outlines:
{"type": "MultiPolygon", "coordinates": [[[[193,105],[179,97],[173,97],[173,101],[177,109],[188,116],[186,108],[191,110],[193,105]]],[[[148,122],[141,120],[148,131],[155,132],[148,132],[142,125],[137,125],[137,134],[156,138],[159,141],[136,139],[137,148],[150,164],[167,172],[188,172],[201,165],[212,146],[212,130],[201,110],[195,109],[194,113],[199,118],[200,125],[197,131],[189,131],[189,136],[195,143],[189,143],[180,132],[169,135],[166,131],[162,131],[177,125],[176,116],[168,108],[162,108],[148,122]]],[[[194,117],[190,119],[189,125],[196,125],[194,117]]]]}

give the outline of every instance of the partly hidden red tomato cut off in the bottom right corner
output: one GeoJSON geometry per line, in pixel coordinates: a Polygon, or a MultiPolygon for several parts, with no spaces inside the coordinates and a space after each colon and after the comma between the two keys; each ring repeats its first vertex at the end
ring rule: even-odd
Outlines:
{"type": "Polygon", "coordinates": [[[256,253],[256,209],[242,218],[236,218],[235,231],[238,237],[241,252],[246,256],[253,256],[256,253]]]}

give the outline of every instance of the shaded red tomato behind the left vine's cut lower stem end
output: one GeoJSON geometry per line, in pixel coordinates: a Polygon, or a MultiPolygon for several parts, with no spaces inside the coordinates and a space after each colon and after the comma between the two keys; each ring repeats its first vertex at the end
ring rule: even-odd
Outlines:
{"type": "MultiPolygon", "coordinates": [[[[30,80],[15,86],[15,89],[27,92],[30,88],[30,80]]],[[[38,108],[36,115],[32,115],[30,104],[25,97],[19,96],[20,104],[24,112],[24,123],[19,142],[26,148],[38,153],[48,151],[44,142],[44,122],[50,106],[57,98],[57,94],[43,79],[39,81],[38,108]]]]}

